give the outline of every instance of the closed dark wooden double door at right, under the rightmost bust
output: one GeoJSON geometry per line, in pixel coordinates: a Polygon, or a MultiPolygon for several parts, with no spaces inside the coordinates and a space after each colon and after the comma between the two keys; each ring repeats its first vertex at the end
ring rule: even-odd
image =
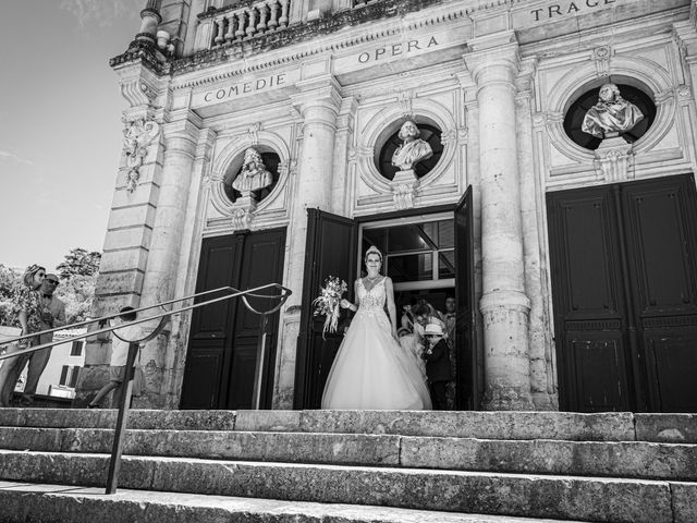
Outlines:
{"type": "Polygon", "coordinates": [[[548,194],[563,410],[696,411],[692,175],[548,194]]]}

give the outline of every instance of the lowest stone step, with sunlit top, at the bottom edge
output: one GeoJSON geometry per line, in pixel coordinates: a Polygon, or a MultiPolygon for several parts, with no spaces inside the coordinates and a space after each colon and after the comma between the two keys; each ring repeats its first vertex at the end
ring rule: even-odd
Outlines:
{"type": "MultiPolygon", "coordinates": [[[[0,482],[7,523],[561,523],[510,515],[0,482]]],[[[565,523],[580,523],[570,522],[565,523]]]]}

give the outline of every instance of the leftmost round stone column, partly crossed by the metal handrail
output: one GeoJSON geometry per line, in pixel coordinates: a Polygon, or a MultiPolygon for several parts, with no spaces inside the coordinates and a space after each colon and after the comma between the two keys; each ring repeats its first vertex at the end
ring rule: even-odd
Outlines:
{"type": "MultiPolygon", "coordinates": [[[[194,117],[163,125],[164,157],[152,240],[147,257],[140,305],[174,297],[178,264],[182,248],[182,231],[185,228],[186,207],[194,169],[194,153],[199,129],[194,117]]],[[[147,329],[147,326],[145,327],[147,329]]],[[[146,374],[147,405],[158,408],[166,400],[163,378],[166,372],[169,329],[143,349],[140,365],[146,374]]]]}

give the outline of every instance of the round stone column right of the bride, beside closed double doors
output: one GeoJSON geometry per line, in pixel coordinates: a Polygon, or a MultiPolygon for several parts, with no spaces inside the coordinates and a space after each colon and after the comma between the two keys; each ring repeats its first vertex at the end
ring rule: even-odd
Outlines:
{"type": "Polygon", "coordinates": [[[489,410],[534,409],[530,399],[515,76],[512,33],[470,41],[465,62],[477,84],[481,172],[485,401],[489,410]]]}

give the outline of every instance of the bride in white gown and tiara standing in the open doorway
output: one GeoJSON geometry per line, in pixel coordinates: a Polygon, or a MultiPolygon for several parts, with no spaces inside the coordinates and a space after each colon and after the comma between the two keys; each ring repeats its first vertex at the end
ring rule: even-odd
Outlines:
{"type": "Polygon", "coordinates": [[[379,273],[380,251],[368,248],[365,264],[368,276],[354,283],[356,303],[341,301],[356,315],[329,372],[322,409],[429,410],[424,376],[396,339],[392,280],[379,273]]]}

